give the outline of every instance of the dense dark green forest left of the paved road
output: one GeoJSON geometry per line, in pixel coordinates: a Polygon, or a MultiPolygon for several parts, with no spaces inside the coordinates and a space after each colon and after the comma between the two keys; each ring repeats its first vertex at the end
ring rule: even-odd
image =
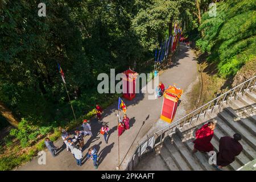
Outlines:
{"type": "Polygon", "coordinates": [[[46,17],[38,16],[39,1],[0,1],[0,101],[18,118],[11,135],[23,147],[40,128],[73,119],[57,63],[79,118],[108,103],[97,93],[99,73],[143,65],[194,7],[188,0],[44,2],[46,17]]]}

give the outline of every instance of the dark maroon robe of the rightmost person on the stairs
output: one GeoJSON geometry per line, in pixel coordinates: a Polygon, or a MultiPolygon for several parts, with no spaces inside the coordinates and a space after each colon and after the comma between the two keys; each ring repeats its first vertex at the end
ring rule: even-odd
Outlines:
{"type": "Polygon", "coordinates": [[[220,147],[217,154],[217,165],[228,166],[234,162],[235,156],[239,155],[243,150],[242,145],[231,137],[221,137],[220,147]]]}

